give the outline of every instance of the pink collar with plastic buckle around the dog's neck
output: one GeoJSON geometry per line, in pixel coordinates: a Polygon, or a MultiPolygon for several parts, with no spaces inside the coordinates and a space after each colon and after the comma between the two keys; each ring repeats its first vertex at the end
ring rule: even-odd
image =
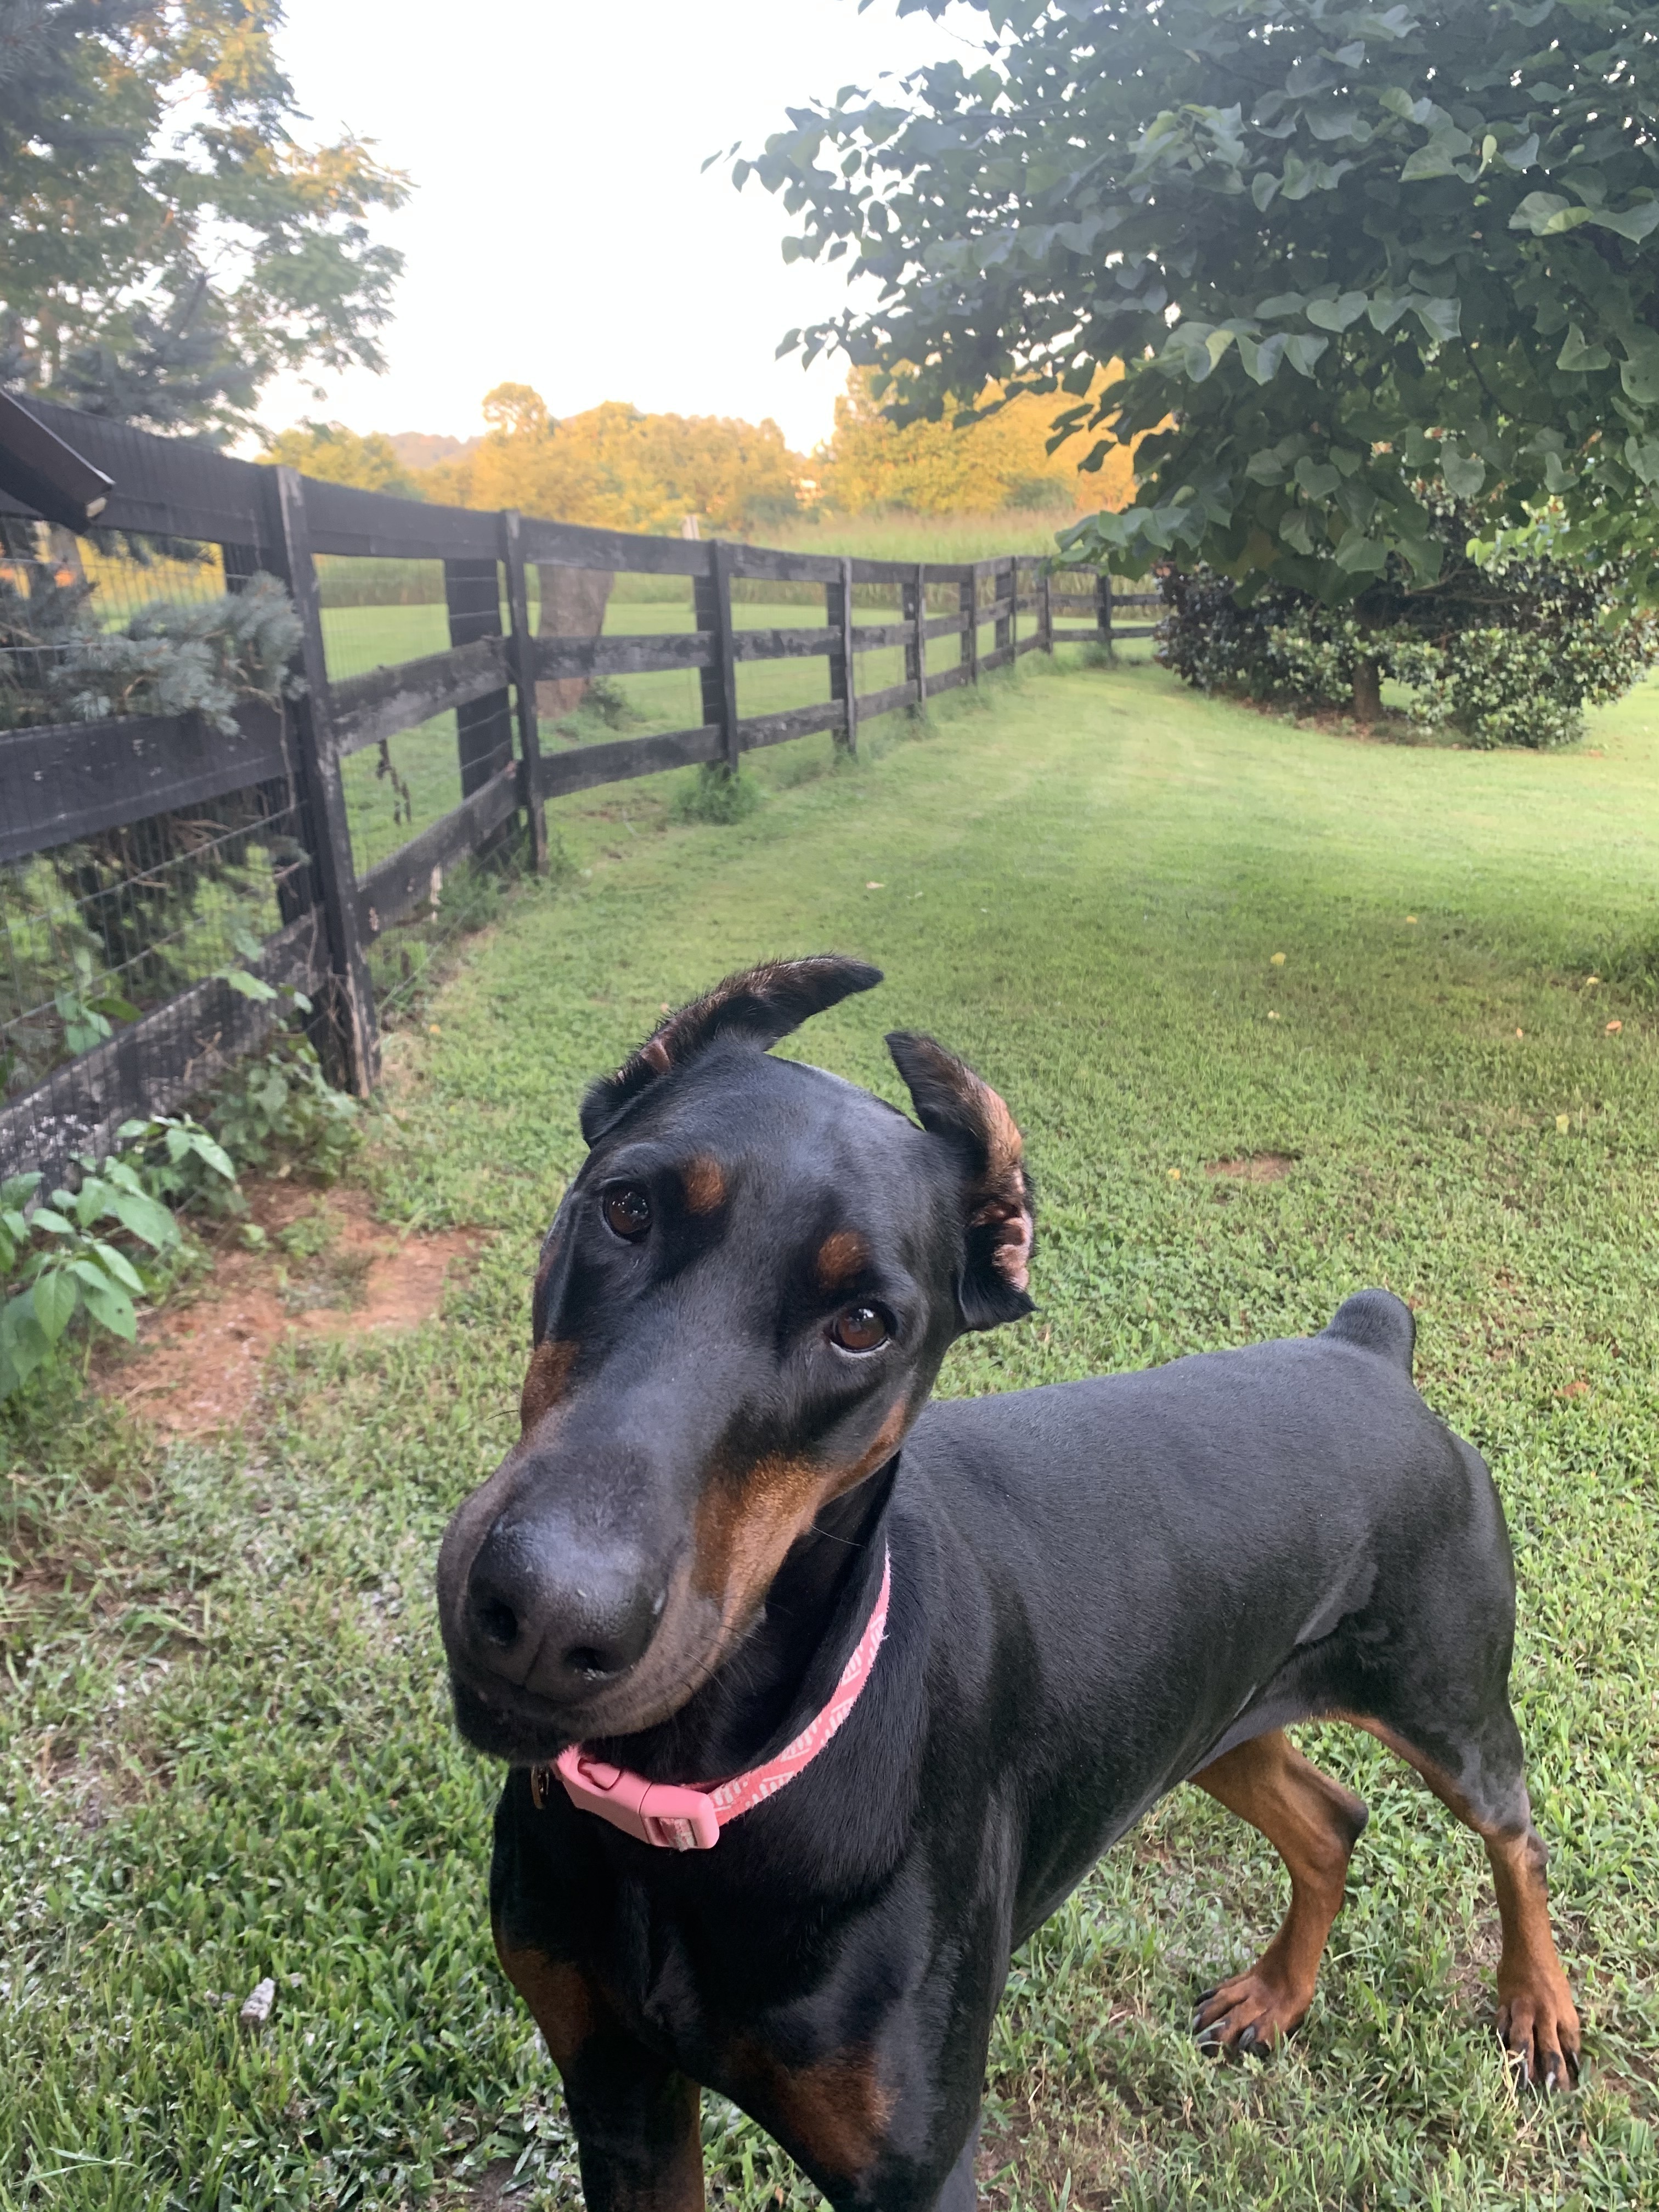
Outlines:
{"type": "Polygon", "coordinates": [[[876,1610],[858,1639],[858,1650],[841,1670],[834,1697],[814,1721],[807,1721],[794,1743],[785,1745],[776,1759],[768,1759],[763,1767],[750,1767],[748,1774],[734,1774],[730,1783],[714,1783],[708,1790],[681,1790],[677,1783],[648,1783],[644,1774],[613,1767],[573,1743],[568,1752],[560,1752],[553,1765],[531,1767],[531,1798],[538,1807],[546,1805],[557,1774],[564,1794],[580,1812],[597,1812],[624,1836],[655,1843],[664,1851],[712,1851],[726,1823],[776,1796],[803,1767],[810,1767],[858,1703],[887,1630],[891,1586],[894,1562],[889,1553],[883,1559],[876,1610]]]}

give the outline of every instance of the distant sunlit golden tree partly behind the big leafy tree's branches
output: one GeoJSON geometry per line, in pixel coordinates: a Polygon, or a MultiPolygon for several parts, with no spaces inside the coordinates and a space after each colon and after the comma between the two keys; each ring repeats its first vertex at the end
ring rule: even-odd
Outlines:
{"type": "MultiPolygon", "coordinates": [[[[1124,507],[1135,495],[1130,458],[1117,449],[1106,471],[1079,478],[1073,462],[1048,453],[1053,407],[1033,392],[967,429],[949,422],[889,420],[872,389],[874,372],[854,369],[836,400],[836,429],[818,462],[825,500],[849,515],[902,507],[918,515],[991,515],[1006,507],[1073,515],[1079,489],[1093,502],[1124,507]]],[[[991,407],[995,387],[980,394],[991,407]]]]}

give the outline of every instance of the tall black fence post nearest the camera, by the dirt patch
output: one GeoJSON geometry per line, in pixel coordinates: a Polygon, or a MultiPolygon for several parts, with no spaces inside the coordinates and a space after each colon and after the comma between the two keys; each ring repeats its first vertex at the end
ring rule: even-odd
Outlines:
{"type": "Polygon", "coordinates": [[[272,555],[301,619],[299,664],[305,697],[294,699],[301,792],[312,823],[316,887],[323,898],[323,927],[332,971],[330,1006],[334,1035],[345,1060],[345,1079],[358,1097],[367,1097],[380,1073],[380,1040],[374,1026],[374,989],[363,958],[363,933],[356,909],[356,869],[352,865],[352,832],[345,821],[345,787],[341,757],[334,748],[334,717],[323,653],[323,608],[316,595],[316,562],[305,522],[305,484],[299,469],[272,469],[276,513],[270,531],[272,555]]]}

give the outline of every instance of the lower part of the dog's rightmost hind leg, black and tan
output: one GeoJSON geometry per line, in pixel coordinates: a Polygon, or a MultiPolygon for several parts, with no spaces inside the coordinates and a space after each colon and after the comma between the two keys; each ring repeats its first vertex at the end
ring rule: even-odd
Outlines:
{"type": "Polygon", "coordinates": [[[1504,1949],[1498,1960],[1498,2037],[1522,2081],[1566,2088],[1579,2077],[1579,2015],[1555,1953],[1548,1907],[1548,1851],[1533,1827],[1522,1778],[1522,1741],[1509,1699],[1482,1732],[1469,1783],[1383,1721],[1345,1714],[1405,1759],[1440,1803],[1486,1845],[1504,1949]]]}

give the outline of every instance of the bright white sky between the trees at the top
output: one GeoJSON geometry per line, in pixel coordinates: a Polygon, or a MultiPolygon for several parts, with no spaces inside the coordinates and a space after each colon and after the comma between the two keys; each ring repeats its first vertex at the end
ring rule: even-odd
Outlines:
{"type": "MultiPolygon", "coordinates": [[[[385,376],[288,383],[263,420],[469,438],[491,385],[555,416],[597,400],[774,416],[796,449],[830,434],[845,363],[776,361],[785,330],[845,299],[834,268],[785,268],[779,201],[699,166],[759,146],[783,108],[907,71],[984,18],[898,18],[894,0],[288,0],[281,53],[312,131],[343,124],[416,192],[385,376]]],[[[964,55],[967,58],[967,55],[964,55]]]]}

